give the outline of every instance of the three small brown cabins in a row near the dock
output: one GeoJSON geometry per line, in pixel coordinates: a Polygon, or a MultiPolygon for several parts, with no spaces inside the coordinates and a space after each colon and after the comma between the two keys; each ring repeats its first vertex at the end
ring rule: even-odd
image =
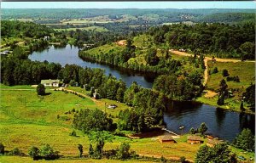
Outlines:
{"type": "MultiPolygon", "coordinates": [[[[160,143],[177,143],[174,138],[170,134],[160,136],[159,137],[160,143]]],[[[198,135],[189,135],[187,138],[187,143],[190,144],[198,144],[204,143],[204,140],[198,135]]],[[[222,140],[218,140],[217,138],[213,138],[212,136],[207,136],[207,146],[214,147],[218,143],[224,143],[222,140]]]]}

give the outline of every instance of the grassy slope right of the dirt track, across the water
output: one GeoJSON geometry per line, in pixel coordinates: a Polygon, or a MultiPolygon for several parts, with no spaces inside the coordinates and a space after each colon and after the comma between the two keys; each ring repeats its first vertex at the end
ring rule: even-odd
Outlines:
{"type": "MultiPolygon", "coordinates": [[[[214,92],[218,92],[218,85],[222,79],[227,77],[222,76],[222,71],[224,69],[229,71],[230,76],[239,76],[240,82],[227,82],[228,89],[233,89],[233,98],[225,99],[225,104],[223,106],[217,105],[218,96],[213,98],[205,98],[204,96],[197,98],[198,101],[204,104],[211,104],[213,106],[218,106],[227,110],[235,110],[240,111],[240,104],[242,93],[246,91],[246,88],[251,85],[251,83],[255,83],[255,63],[252,62],[237,62],[237,63],[222,63],[216,62],[212,63],[208,62],[209,70],[212,70],[214,67],[218,67],[218,73],[209,75],[207,81],[207,89],[212,90],[214,92]]],[[[248,104],[244,103],[244,107],[247,113],[253,113],[252,110],[248,109],[248,104]]]]}

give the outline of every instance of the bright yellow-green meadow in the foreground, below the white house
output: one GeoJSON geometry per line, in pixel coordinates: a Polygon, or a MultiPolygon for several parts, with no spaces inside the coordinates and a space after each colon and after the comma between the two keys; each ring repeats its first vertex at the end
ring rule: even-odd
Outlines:
{"type": "MultiPolygon", "coordinates": [[[[86,93],[80,87],[68,87],[79,93],[86,93]]],[[[120,104],[108,99],[92,100],[90,98],[79,98],[72,93],[54,91],[46,89],[50,93],[44,97],[38,97],[35,88],[30,86],[7,87],[1,85],[1,112],[0,112],[0,142],[6,150],[14,148],[21,149],[27,154],[27,149],[31,146],[42,146],[49,143],[60,155],[77,156],[79,150],[78,143],[83,144],[84,154],[89,149],[89,139],[78,130],[77,137],[69,136],[73,131],[73,114],[65,114],[69,110],[79,110],[89,108],[91,110],[99,108],[105,110],[105,103],[117,104],[115,110],[106,110],[112,115],[117,115],[119,110],[128,108],[125,104],[120,104]],[[19,90],[20,89],[20,90],[19,90]],[[57,115],[60,115],[57,118],[57,115]]],[[[114,120],[116,121],[116,119],[114,120]]],[[[139,155],[166,158],[179,158],[185,156],[189,160],[194,160],[195,153],[200,144],[191,145],[186,143],[186,135],[177,139],[175,144],[161,144],[157,138],[131,139],[125,137],[114,137],[112,143],[106,143],[104,149],[116,149],[122,142],[131,144],[131,149],[139,155]],[[148,148],[154,147],[154,148],[148,148]]],[[[238,151],[239,152],[239,151],[238,151]]],[[[244,155],[249,158],[250,155],[244,155]]],[[[29,162],[28,157],[0,157],[3,162],[29,162]],[[16,161],[17,160],[17,161],[16,161]]],[[[55,162],[80,162],[82,160],[55,160],[55,162]]],[[[85,161],[85,160],[83,160],[85,161]]],[[[86,160],[85,162],[108,162],[108,160],[86,160]]],[[[111,162],[114,162],[114,160],[111,162]]],[[[136,161],[130,161],[136,162],[136,161]]]]}

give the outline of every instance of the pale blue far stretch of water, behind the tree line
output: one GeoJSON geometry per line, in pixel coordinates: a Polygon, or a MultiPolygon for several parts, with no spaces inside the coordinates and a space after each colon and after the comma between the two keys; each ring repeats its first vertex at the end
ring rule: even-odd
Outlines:
{"type": "Polygon", "coordinates": [[[105,70],[106,75],[112,74],[116,78],[122,79],[128,87],[131,86],[131,83],[134,81],[143,87],[151,88],[153,86],[154,76],[147,76],[145,74],[140,75],[137,73],[131,73],[131,71],[119,70],[108,65],[87,62],[80,59],[78,53],[79,48],[71,45],[67,45],[66,48],[54,48],[54,46],[50,46],[49,49],[44,51],[33,52],[28,58],[38,61],[47,60],[49,62],[59,63],[62,66],[75,64],[82,67],[101,68],[105,70]]]}

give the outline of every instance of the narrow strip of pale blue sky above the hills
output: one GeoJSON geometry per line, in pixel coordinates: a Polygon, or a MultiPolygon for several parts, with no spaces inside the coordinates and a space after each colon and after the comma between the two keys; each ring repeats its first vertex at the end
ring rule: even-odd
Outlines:
{"type": "Polygon", "coordinates": [[[2,2],[1,8],[256,8],[256,2],[2,2]]]}

